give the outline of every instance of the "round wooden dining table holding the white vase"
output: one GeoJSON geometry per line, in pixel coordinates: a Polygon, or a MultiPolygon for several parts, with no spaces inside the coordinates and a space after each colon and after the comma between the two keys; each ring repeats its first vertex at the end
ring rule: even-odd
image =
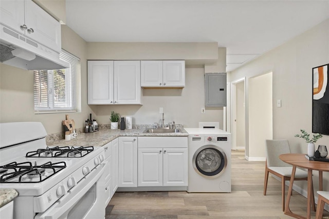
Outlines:
{"type": "Polygon", "coordinates": [[[305,158],[305,154],[281,154],[279,158],[289,163],[293,166],[293,171],[291,172],[291,178],[290,178],[290,185],[288,190],[288,196],[286,200],[286,206],[284,213],[295,217],[295,218],[301,218],[301,219],[309,219],[310,218],[310,210],[312,201],[314,203],[314,191],[312,190],[312,172],[313,170],[319,171],[319,190],[321,191],[323,189],[323,177],[322,172],[329,172],[329,162],[323,162],[323,161],[312,161],[305,158]],[[302,216],[296,213],[291,212],[289,208],[289,202],[291,197],[291,192],[293,192],[293,185],[294,185],[294,178],[296,173],[296,168],[304,168],[307,169],[307,215],[302,216]]]}

